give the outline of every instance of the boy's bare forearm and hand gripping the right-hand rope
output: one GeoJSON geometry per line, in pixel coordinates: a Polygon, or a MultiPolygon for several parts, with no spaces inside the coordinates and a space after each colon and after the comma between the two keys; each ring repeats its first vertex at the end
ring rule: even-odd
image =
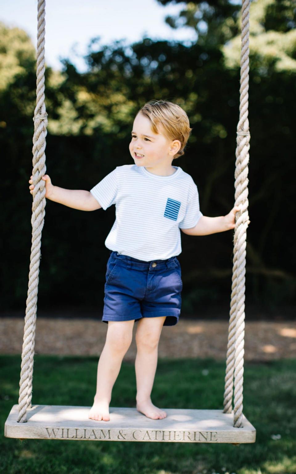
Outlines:
{"type": "MultiPolygon", "coordinates": [[[[226,216],[201,216],[195,227],[180,230],[189,236],[206,236],[209,234],[215,234],[216,232],[224,232],[224,230],[234,229],[235,213],[238,210],[240,210],[240,208],[238,206],[234,206],[234,208],[226,216]]],[[[248,220],[248,224],[250,224],[250,222],[251,221],[248,220]]]]}

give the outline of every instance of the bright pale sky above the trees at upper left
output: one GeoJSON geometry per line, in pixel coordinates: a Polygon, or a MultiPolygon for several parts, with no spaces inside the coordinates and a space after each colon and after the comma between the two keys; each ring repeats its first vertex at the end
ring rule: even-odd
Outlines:
{"type": "MultiPolygon", "coordinates": [[[[24,29],[37,43],[37,0],[0,0],[0,21],[24,29]]],[[[161,6],[156,0],[47,0],[45,4],[45,64],[56,70],[59,57],[70,58],[80,72],[86,71],[83,55],[91,38],[100,36],[106,45],[126,40],[126,45],[143,36],[153,40],[177,40],[185,44],[197,40],[193,28],[172,29],[167,15],[178,15],[185,2],[161,6]]]]}

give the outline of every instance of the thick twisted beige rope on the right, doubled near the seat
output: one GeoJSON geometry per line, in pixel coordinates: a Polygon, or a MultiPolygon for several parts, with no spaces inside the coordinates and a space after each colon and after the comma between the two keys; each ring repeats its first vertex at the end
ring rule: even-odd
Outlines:
{"type": "Polygon", "coordinates": [[[233,370],[234,370],[234,410],[233,426],[242,428],[242,387],[244,355],[244,300],[246,234],[248,227],[248,163],[250,132],[248,120],[249,90],[249,10],[250,0],[242,0],[242,45],[241,45],[241,87],[240,118],[237,125],[235,161],[235,206],[240,211],[235,214],[233,239],[233,277],[230,303],[230,319],[226,356],[224,390],[224,413],[232,412],[233,370]]]}

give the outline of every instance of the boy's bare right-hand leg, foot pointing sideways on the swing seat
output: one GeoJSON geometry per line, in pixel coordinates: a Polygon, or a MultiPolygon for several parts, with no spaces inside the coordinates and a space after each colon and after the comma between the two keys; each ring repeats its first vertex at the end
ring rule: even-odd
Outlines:
{"type": "Polygon", "coordinates": [[[162,419],[167,416],[164,410],[157,408],[151,401],[151,392],[157,366],[158,342],[166,316],[142,318],[137,322],[135,340],[137,355],[135,373],[137,383],[136,408],[146,417],[162,419]]]}

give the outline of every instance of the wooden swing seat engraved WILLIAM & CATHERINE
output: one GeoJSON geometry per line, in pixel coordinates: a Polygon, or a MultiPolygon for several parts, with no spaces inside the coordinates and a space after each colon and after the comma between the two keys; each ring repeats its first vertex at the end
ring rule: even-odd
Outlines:
{"type": "Polygon", "coordinates": [[[18,423],[13,405],[5,423],[7,438],[85,441],[156,441],[178,443],[254,443],[256,429],[242,415],[233,427],[233,412],[164,408],[167,417],[147,418],[135,408],[110,407],[110,420],[89,419],[91,407],[33,405],[27,422],[18,423]]]}

